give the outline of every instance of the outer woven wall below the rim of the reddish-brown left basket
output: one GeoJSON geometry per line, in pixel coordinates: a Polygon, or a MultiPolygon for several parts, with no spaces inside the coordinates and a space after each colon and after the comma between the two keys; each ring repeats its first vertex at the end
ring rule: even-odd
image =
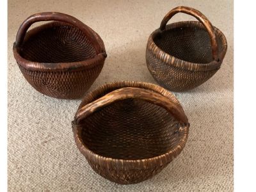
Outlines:
{"type": "Polygon", "coordinates": [[[42,72],[26,70],[19,65],[26,80],[38,92],[58,99],[76,99],[82,97],[99,76],[102,65],[79,71],[42,72]]]}

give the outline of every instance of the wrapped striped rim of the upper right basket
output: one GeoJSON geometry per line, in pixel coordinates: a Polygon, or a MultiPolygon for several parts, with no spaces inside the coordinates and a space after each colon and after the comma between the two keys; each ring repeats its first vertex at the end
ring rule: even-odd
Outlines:
{"type": "MultiPolygon", "coordinates": [[[[180,22],[174,22],[172,24],[166,25],[166,29],[164,31],[169,31],[175,28],[182,28],[186,26],[188,27],[198,27],[198,28],[204,28],[204,25],[201,24],[198,21],[180,21],[180,22]]],[[[221,63],[225,57],[225,54],[227,52],[227,39],[225,35],[220,31],[220,29],[213,26],[214,32],[216,33],[216,36],[219,36],[223,49],[221,51],[218,51],[218,61],[212,60],[210,63],[193,63],[189,61],[184,61],[179,58],[176,58],[175,56],[172,56],[168,54],[167,52],[164,52],[160,47],[156,45],[154,42],[154,37],[158,35],[159,33],[163,33],[164,31],[161,31],[161,29],[156,29],[153,31],[150,36],[148,37],[148,43],[147,43],[147,51],[150,51],[154,54],[154,56],[163,61],[164,63],[171,65],[172,67],[181,68],[183,70],[190,70],[190,71],[207,71],[207,70],[216,70],[221,67],[221,63]]]]}

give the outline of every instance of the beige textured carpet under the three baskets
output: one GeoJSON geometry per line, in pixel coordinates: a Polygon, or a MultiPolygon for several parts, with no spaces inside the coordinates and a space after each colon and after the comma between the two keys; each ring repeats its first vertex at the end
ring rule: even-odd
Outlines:
{"type": "MultiPolygon", "coordinates": [[[[194,20],[184,14],[172,22],[194,20]]],[[[233,190],[233,2],[232,1],[8,1],[8,189],[9,191],[232,191],[233,190]],[[77,150],[71,120],[80,100],[36,92],[13,58],[20,23],[36,12],[77,17],[104,40],[108,58],[95,81],[156,83],[145,64],[150,33],[175,6],[197,8],[228,41],[223,65],[207,83],[175,93],[191,129],[186,148],[156,177],[122,186],[93,172],[77,150]]]]}

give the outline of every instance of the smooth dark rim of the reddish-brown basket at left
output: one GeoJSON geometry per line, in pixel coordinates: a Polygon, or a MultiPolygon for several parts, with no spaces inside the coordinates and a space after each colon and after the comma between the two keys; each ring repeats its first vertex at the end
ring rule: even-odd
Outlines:
{"type": "MultiPolygon", "coordinates": [[[[33,29],[30,29],[26,34],[26,39],[30,38],[32,35],[36,35],[36,33],[43,31],[44,29],[53,28],[56,26],[72,26],[72,24],[68,24],[66,22],[60,22],[60,21],[53,21],[53,22],[47,22],[46,24],[42,24],[40,26],[37,26],[33,29]]],[[[89,27],[88,27],[89,28],[89,27]]],[[[92,31],[92,34],[95,35],[97,41],[99,42],[100,48],[102,52],[99,54],[96,54],[94,58],[84,60],[84,61],[76,61],[76,62],[61,62],[61,63],[41,63],[36,61],[30,61],[22,56],[20,56],[19,49],[20,47],[17,47],[16,42],[13,43],[13,56],[15,60],[17,61],[18,65],[20,65],[23,68],[26,68],[27,70],[33,70],[33,71],[77,71],[77,70],[83,70],[87,68],[96,67],[97,65],[102,64],[102,61],[104,61],[107,57],[106,49],[104,46],[104,42],[100,38],[100,36],[93,31],[92,28],[89,28],[90,31],[92,31]]]]}

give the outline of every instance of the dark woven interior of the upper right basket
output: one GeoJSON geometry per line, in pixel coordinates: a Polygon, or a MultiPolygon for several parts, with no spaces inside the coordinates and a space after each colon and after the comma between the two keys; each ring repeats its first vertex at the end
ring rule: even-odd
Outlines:
{"type": "MultiPolygon", "coordinates": [[[[184,26],[163,31],[153,38],[155,44],[175,58],[192,63],[210,63],[211,40],[207,31],[198,26],[184,26]]],[[[220,38],[216,36],[220,50],[220,38]]]]}

